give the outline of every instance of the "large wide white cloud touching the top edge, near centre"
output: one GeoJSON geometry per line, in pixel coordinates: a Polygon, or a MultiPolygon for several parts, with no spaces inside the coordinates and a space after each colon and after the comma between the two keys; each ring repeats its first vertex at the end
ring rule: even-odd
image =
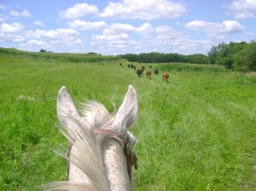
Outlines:
{"type": "Polygon", "coordinates": [[[102,17],[115,19],[172,19],[186,12],[182,3],[168,0],[122,0],[121,2],[109,2],[108,7],[100,14],[102,17]]]}

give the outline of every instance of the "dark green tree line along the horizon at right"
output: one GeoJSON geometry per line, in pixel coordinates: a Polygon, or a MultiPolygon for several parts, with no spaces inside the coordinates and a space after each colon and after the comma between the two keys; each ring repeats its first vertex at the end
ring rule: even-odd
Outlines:
{"type": "Polygon", "coordinates": [[[212,46],[207,55],[179,55],[177,53],[141,53],[141,54],[125,54],[119,55],[128,61],[137,61],[143,63],[197,63],[222,65],[226,68],[236,71],[248,72],[256,71],[256,40],[250,43],[246,42],[230,42],[218,43],[212,46]]]}

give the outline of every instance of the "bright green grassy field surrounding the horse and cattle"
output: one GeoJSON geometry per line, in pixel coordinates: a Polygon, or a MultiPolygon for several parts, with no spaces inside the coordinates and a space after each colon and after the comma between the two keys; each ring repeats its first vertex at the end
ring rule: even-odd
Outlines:
{"type": "Polygon", "coordinates": [[[137,137],[136,191],[256,189],[255,74],[151,64],[169,72],[164,83],[154,73],[137,78],[128,64],[2,53],[0,190],[41,190],[65,179],[65,160],[50,150],[67,147],[55,113],[62,85],[77,107],[93,99],[113,111],[111,101],[119,107],[129,84],[139,102],[131,128],[137,137]]]}

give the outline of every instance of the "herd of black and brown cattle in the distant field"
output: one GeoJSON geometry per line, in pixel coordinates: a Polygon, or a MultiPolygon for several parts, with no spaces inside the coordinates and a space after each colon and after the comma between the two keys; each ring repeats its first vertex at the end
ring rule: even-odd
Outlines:
{"type": "MultiPolygon", "coordinates": [[[[120,66],[124,68],[123,64],[120,63],[120,66]]],[[[141,67],[139,69],[137,69],[134,65],[132,64],[128,64],[127,67],[131,68],[131,69],[134,69],[137,73],[137,77],[140,78],[142,75],[143,75],[143,72],[145,71],[145,67],[141,67]]],[[[149,66],[149,69],[148,71],[146,72],[146,76],[148,79],[151,78],[151,69],[152,69],[152,66],[149,66]]],[[[154,70],[154,74],[155,75],[159,75],[159,70],[158,69],[155,69],[154,70]]],[[[168,78],[169,78],[169,74],[167,72],[161,72],[161,77],[163,79],[163,82],[168,82],[168,78]]]]}

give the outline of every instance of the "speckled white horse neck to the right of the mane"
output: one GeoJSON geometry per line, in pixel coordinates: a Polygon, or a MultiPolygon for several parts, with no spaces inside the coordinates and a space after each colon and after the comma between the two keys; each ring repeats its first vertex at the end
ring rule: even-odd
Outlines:
{"type": "Polygon", "coordinates": [[[131,191],[133,189],[132,172],[130,182],[125,153],[120,143],[114,139],[106,140],[102,146],[102,153],[109,190],[131,191]]]}

